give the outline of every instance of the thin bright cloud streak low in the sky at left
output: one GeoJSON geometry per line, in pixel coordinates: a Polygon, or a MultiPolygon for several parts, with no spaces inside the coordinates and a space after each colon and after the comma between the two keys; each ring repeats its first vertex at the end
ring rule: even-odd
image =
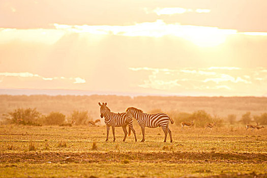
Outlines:
{"type": "Polygon", "coordinates": [[[41,78],[43,80],[55,80],[55,79],[62,79],[62,80],[71,80],[73,83],[85,83],[85,79],[82,79],[80,77],[76,77],[76,78],[66,78],[66,77],[53,77],[53,78],[46,78],[46,77],[42,77],[38,74],[33,74],[33,73],[29,73],[29,72],[3,72],[0,73],[0,77],[1,80],[0,82],[3,82],[5,77],[22,77],[22,78],[41,78]]]}

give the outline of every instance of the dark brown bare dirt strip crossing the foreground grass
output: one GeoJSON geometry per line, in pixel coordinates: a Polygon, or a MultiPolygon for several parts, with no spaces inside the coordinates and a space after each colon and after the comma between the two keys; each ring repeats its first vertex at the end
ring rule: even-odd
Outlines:
{"type": "Polygon", "coordinates": [[[247,153],[0,153],[1,163],[63,163],[71,157],[72,162],[153,162],[153,163],[267,163],[267,154],[247,153]]]}

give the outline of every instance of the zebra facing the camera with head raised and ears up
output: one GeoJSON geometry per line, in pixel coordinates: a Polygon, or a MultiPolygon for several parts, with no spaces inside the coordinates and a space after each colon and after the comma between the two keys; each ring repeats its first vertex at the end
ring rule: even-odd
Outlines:
{"type": "Polygon", "coordinates": [[[115,127],[122,127],[123,128],[123,131],[124,131],[123,141],[125,141],[125,139],[127,137],[127,129],[126,129],[127,125],[129,125],[129,135],[128,136],[130,136],[131,130],[132,130],[134,133],[135,141],[137,141],[135,130],[133,128],[133,122],[127,122],[126,121],[126,112],[123,112],[120,114],[110,112],[110,109],[107,107],[107,103],[103,103],[102,105],[101,105],[101,103],[98,103],[98,104],[100,106],[100,116],[101,116],[101,118],[103,118],[103,116],[105,117],[105,124],[107,126],[107,139],[106,139],[106,141],[108,141],[108,134],[109,134],[109,127],[110,126],[112,127],[113,141],[115,141],[115,127]]]}

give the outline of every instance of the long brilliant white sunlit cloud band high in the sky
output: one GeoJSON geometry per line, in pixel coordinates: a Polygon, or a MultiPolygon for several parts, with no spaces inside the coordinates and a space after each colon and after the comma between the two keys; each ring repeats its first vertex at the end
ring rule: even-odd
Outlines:
{"type": "Polygon", "coordinates": [[[156,22],[136,23],[135,25],[54,25],[56,29],[75,33],[93,33],[101,35],[118,35],[130,37],[163,37],[173,35],[191,41],[200,47],[212,47],[223,43],[227,36],[236,34],[234,29],[220,29],[217,27],[167,24],[163,20],[156,22]]]}

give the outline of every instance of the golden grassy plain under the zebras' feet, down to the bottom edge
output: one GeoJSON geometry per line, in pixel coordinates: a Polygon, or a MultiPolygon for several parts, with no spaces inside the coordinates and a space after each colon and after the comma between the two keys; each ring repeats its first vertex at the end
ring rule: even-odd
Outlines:
{"type": "Polygon", "coordinates": [[[160,128],[140,143],[137,127],[138,142],[122,142],[122,128],[105,142],[105,126],[0,126],[0,177],[267,176],[265,129],[170,129],[173,143],[160,128]]]}

